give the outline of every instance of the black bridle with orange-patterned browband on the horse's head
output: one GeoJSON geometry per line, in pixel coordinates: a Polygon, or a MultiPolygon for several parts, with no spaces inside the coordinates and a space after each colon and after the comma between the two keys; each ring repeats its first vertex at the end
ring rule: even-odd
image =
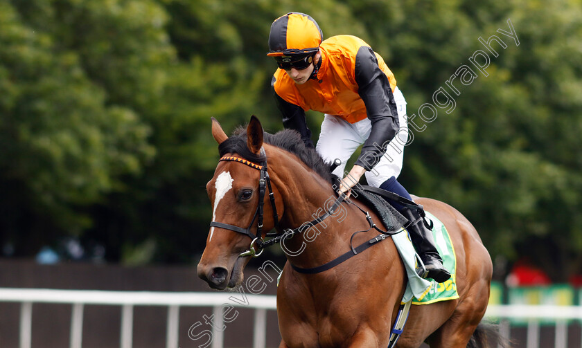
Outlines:
{"type": "MultiPolygon", "coordinates": [[[[261,154],[265,155],[265,150],[261,148],[261,154]]],[[[269,199],[271,201],[271,206],[273,208],[273,221],[275,223],[275,226],[277,226],[277,224],[279,223],[279,217],[277,216],[277,208],[275,205],[275,196],[271,187],[271,179],[269,178],[269,173],[267,172],[267,159],[265,156],[265,161],[261,162],[261,165],[258,165],[256,163],[252,163],[251,161],[247,161],[244,158],[240,158],[240,157],[236,157],[236,156],[223,156],[222,158],[220,158],[220,161],[233,161],[233,162],[238,162],[238,163],[243,163],[245,165],[248,165],[249,167],[252,167],[256,170],[259,171],[259,178],[258,178],[258,206],[256,207],[253,219],[249,225],[249,227],[247,228],[242,228],[242,227],[238,227],[238,226],[234,226],[234,225],[229,225],[228,223],[222,223],[222,222],[217,222],[217,221],[212,221],[210,223],[211,227],[218,227],[218,228],[224,228],[225,230],[231,230],[234,232],[239,232],[242,233],[243,235],[247,235],[248,237],[250,237],[252,239],[251,241],[251,246],[249,247],[249,250],[245,251],[245,253],[240,254],[240,257],[244,257],[244,256],[252,256],[252,257],[256,257],[258,255],[261,255],[261,253],[263,253],[263,237],[261,237],[262,235],[262,230],[263,230],[263,205],[265,205],[265,192],[267,191],[267,187],[269,189],[269,199]],[[253,234],[253,232],[251,232],[251,228],[253,227],[254,221],[255,219],[257,220],[257,225],[256,225],[256,235],[253,234]],[[261,251],[257,254],[254,248],[254,244],[257,244],[258,248],[261,249],[261,251]]]]}

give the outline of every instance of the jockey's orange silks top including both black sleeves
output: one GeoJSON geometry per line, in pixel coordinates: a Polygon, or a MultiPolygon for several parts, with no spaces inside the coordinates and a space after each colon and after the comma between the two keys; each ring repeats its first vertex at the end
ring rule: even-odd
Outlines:
{"type": "Polygon", "coordinates": [[[281,69],[274,73],[272,87],[283,125],[299,131],[312,147],[305,111],[328,113],[350,123],[369,118],[371,134],[355,164],[371,170],[385,151],[378,144],[387,144],[399,129],[393,95],[396,78],[384,59],[358,37],[330,37],[321,42],[319,52],[319,71],[304,84],[296,84],[281,69]]]}

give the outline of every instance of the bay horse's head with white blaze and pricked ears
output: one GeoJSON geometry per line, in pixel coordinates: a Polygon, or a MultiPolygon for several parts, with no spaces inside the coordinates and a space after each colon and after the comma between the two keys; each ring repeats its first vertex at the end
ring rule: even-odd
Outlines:
{"type": "MultiPolygon", "coordinates": [[[[224,142],[229,138],[214,118],[212,135],[219,145],[227,145],[224,142]]],[[[247,127],[246,148],[245,151],[250,152],[247,157],[265,156],[263,127],[254,116],[247,127]]],[[[263,207],[259,210],[258,206],[268,194],[265,194],[265,180],[261,185],[259,181],[265,175],[266,167],[261,163],[247,161],[240,154],[229,151],[206,184],[213,205],[213,222],[197,271],[198,276],[214,289],[233,287],[243,281],[243,268],[252,256],[245,251],[249,246],[252,249],[254,239],[262,235],[258,226],[263,224],[263,207]]],[[[265,230],[268,230],[266,225],[265,230]]]]}

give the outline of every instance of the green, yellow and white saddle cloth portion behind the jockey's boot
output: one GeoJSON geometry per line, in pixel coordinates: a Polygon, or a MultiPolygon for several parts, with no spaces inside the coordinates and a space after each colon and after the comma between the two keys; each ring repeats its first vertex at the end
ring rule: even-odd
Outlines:
{"type": "Polygon", "coordinates": [[[439,254],[443,258],[443,264],[450,272],[451,277],[443,283],[437,283],[429,278],[432,285],[430,286],[430,290],[420,298],[413,298],[412,304],[430,304],[433,302],[459,298],[459,293],[457,293],[457,283],[455,282],[457,275],[457,258],[455,257],[455,248],[452,246],[450,235],[439,219],[436,219],[436,217],[434,217],[433,214],[430,214],[430,212],[425,213],[426,218],[430,219],[434,224],[432,228],[434,244],[436,244],[436,249],[439,250],[439,254]]]}

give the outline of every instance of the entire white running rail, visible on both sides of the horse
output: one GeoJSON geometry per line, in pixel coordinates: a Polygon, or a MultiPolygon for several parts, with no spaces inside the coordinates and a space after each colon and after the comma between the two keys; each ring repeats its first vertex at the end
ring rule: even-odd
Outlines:
{"type": "MultiPolygon", "coordinates": [[[[133,307],[167,306],[168,322],[166,348],[178,347],[179,308],[181,306],[212,307],[218,320],[213,327],[222,327],[222,306],[243,306],[229,300],[234,293],[177,292],[161,293],[146,291],[87,291],[55,289],[6,289],[0,288],[0,302],[18,302],[20,309],[19,348],[30,348],[32,336],[33,303],[71,304],[70,347],[81,348],[83,308],[85,304],[121,306],[121,348],[132,347],[133,307]]],[[[266,311],[276,310],[274,295],[247,295],[247,308],[255,309],[253,348],[265,347],[266,311]]],[[[539,348],[540,320],[555,320],[556,342],[554,347],[566,348],[567,320],[582,320],[582,306],[529,306],[520,304],[489,306],[486,318],[500,320],[500,332],[509,336],[508,319],[528,320],[527,348],[539,348]]],[[[222,348],[222,331],[213,330],[212,348],[222,348]]],[[[582,343],[581,343],[582,346],[582,343]]]]}

